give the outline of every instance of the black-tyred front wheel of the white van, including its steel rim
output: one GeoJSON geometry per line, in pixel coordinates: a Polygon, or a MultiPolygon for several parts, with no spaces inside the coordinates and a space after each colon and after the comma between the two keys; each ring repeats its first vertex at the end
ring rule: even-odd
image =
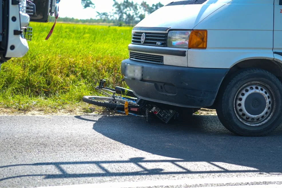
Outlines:
{"type": "Polygon", "coordinates": [[[220,95],[219,120],[235,134],[265,136],[282,121],[282,84],[266,70],[239,71],[220,95]]]}

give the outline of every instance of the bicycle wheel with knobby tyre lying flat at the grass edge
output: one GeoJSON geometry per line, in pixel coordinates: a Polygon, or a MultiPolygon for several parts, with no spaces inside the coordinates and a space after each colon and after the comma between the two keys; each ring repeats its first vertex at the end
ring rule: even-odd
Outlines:
{"type": "Polygon", "coordinates": [[[100,97],[100,96],[84,96],[82,98],[83,102],[88,104],[93,104],[96,106],[106,107],[116,109],[118,103],[113,103],[111,97],[100,97]]]}

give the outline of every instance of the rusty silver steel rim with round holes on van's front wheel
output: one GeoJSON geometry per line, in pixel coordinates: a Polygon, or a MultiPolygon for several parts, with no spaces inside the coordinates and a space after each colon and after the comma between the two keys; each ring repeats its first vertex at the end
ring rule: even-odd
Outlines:
{"type": "Polygon", "coordinates": [[[233,102],[237,118],[247,126],[262,126],[274,115],[276,97],[269,85],[248,82],[235,94],[233,102]]]}

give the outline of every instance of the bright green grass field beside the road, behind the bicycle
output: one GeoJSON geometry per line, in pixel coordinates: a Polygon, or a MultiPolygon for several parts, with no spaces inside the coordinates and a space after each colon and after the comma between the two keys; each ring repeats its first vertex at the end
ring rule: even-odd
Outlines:
{"type": "Polygon", "coordinates": [[[120,63],[128,58],[131,27],[32,23],[33,39],[23,58],[2,64],[0,108],[11,112],[74,109],[90,111],[82,96],[94,94],[91,83],[121,82],[120,63]]]}

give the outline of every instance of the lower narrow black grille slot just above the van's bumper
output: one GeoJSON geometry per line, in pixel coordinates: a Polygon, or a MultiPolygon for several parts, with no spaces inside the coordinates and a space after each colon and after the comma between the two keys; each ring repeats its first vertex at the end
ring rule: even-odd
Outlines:
{"type": "Polygon", "coordinates": [[[130,52],[130,59],[147,63],[164,64],[164,56],[130,52]]]}

